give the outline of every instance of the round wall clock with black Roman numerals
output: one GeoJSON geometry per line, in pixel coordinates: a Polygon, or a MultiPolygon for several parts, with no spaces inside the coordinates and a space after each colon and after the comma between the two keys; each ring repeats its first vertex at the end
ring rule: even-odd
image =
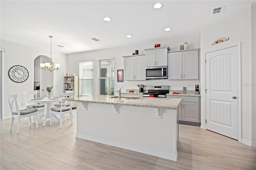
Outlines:
{"type": "Polygon", "coordinates": [[[9,70],[9,77],[12,81],[22,83],[28,79],[28,70],[21,65],[14,65],[9,70]]]}

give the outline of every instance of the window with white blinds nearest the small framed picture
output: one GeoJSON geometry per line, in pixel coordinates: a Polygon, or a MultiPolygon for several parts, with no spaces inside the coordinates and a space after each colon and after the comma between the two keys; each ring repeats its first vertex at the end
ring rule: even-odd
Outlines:
{"type": "Polygon", "coordinates": [[[114,95],[114,59],[99,60],[99,94],[114,95]]]}

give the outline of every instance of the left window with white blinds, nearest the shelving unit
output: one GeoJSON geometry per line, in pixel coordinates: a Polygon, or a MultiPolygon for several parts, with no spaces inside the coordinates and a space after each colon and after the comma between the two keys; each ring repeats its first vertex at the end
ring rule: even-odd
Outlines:
{"type": "Polygon", "coordinates": [[[93,95],[93,60],[79,62],[80,95],[93,95]]]}

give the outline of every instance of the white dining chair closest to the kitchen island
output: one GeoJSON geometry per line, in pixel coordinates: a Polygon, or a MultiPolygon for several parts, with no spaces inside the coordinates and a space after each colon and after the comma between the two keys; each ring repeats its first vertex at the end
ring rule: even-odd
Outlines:
{"type": "Polygon", "coordinates": [[[59,107],[52,107],[51,108],[51,114],[50,114],[50,126],[52,126],[52,114],[60,115],[60,128],[62,128],[62,122],[63,122],[63,115],[68,114],[70,115],[70,123],[73,125],[72,122],[72,105],[73,101],[65,101],[67,98],[73,98],[73,93],[61,93],[61,103],[59,107]]]}

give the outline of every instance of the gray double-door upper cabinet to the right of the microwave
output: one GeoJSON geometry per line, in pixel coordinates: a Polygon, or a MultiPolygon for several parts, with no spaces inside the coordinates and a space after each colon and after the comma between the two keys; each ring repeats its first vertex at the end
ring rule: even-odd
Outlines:
{"type": "Polygon", "coordinates": [[[168,53],[169,80],[199,79],[199,50],[168,53]]]}

